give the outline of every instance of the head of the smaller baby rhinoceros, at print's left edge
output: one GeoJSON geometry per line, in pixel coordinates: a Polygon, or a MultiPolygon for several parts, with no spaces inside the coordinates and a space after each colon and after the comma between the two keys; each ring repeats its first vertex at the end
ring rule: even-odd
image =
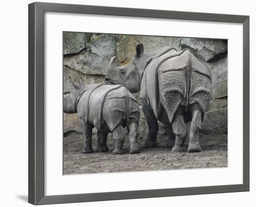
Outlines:
{"type": "Polygon", "coordinates": [[[82,79],[79,80],[79,84],[75,83],[73,80],[71,80],[69,76],[69,80],[74,86],[74,89],[66,96],[63,97],[63,112],[67,114],[74,114],[77,113],[76,108],[76,100],[77,100],[77,93],[81,86],[83,85],[82,79]]]}

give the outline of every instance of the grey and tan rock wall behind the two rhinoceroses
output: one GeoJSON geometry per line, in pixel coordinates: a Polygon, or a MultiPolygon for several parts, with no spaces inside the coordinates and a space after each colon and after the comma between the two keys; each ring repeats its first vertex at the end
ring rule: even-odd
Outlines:
{"type": "MultiPolygon", "coordinates": [[[[228,132],[228,41],[156,37],[139,35],[95,34],[95,33],[63,33],[63,84],[64,94],[69,93],[72,85],[68,75],[75,81],[82,78],[88,83],[104,81],[106,69],[111,57],[117,56],[121,64],[127,64],[135,54],[135,42],[144,45],[149,52],[161,47],[170,46],[177,50],[189,48],[195,56],[202,60],[212,73],[212,99],[209,110],[202,123],[203,134],[227,134],[228,132]]],[[[139,93],[134,94],[139,100],[139,93]]],[[[141,106],[140,106],[141,108],[141,106]]],[[[189,128],[189,127],[188,127],[189,128]]],[[[81,133],[81,126],[76,114],[64,113],[64,134],[76,131],[81,133]]],[[[96,130],[94,129],[94,133],[96,130]]],[[[158,134],[166,134],[167,126],[159,123],[158,134]]],[[[148,133],[142,109],[139,136],[148,133]]]]}

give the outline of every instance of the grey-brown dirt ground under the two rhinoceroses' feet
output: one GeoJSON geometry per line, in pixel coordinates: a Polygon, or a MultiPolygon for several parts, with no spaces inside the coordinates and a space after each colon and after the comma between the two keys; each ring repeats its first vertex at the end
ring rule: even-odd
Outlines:
{"type": "MultiPolygon", "coordinates": [[[[82,134],[65,135],[63,140],[63,174],[88,174],[130,171],[172,170],[189,168],[228,167],[227,134],[203,135],[200,153],[172,153],[165,147],[167,135],[158,135],[157,148],[143,148],[145,138],[139,138],[140,154],[129,154],[129,139],[124,143],[124,154],[112,155],[114,140],[108,137],[108,152],[81,154],[82,134]]],[[[188,145],[188,139],[186,140],[188,145]]],[[[97,137],[93,134],[93,148],[97,137]]]]}

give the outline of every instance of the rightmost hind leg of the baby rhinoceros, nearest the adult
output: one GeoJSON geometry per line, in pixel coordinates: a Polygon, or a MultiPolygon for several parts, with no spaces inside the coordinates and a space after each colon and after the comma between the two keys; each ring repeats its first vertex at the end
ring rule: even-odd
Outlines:
{"type": "Polygon", "coordinates": [[[128,123],[130,137],[130,154],[140,153],[138,145],[138,125],[135,121],[128,123]]]}

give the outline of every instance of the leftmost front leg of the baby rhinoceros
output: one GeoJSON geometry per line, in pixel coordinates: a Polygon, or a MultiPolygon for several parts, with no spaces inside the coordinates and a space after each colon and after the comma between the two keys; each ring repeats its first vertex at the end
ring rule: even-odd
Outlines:
{"type": "Polygon", "coordinates": [[[82,154],[93,153],[92,147],[92,126],[81,119],[84,147],[82,149],[82,154]]]}

